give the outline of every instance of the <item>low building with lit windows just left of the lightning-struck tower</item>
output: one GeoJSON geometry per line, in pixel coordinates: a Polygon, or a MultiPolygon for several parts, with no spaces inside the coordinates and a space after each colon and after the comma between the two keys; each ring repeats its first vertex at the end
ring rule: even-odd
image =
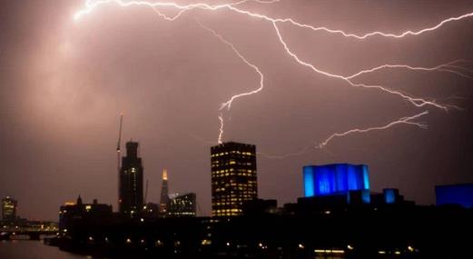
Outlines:
{"type": "Polygon", "coordinates": [[[169,200],[168,215],[170,217],[195,216],[196,208],[196,194],[177,194],[169,200]]]}

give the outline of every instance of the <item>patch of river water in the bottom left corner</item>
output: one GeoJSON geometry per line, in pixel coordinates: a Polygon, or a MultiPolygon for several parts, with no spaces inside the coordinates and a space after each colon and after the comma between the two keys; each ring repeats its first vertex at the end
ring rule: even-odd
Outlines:
{"type": "Polygon", "coordinates": [[[0,241],[0,259],[87,259],[91,256],[70,254],[43,241],[0,241]]]}

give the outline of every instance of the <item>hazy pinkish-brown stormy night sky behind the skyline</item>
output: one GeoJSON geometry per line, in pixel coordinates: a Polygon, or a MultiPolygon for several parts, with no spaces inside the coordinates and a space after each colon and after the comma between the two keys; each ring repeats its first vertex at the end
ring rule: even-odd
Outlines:
{"type": "MultiPolygon", "coordinates": [[[[310,146],[286,159],[258,156],[261,198],[295,202],[306,164],[368,164],[372,191],[399,188],[418,204],[435,203],[436,184],[473,182],[472,62],[456,64],[469,78],[399,68],[354,80],[461,108],[446,112],[313,73],[284,51],[271,23],[258,18],[193,10],[169,22],[145,6],[110,4],[74,21],[84,2],[0,2],[0,196],[17,199],[22,217],[57,220],[59,206],[78,194],[116,210],[121,112],[123,140],[141,144],[148,201],[159,202],[166,167],[170,191],[197,193],[198,213],[210,214],[210,146],[217,143],[220,105],[257,88],[259,76],[197,21],[232,42],[266,80],[259,95],[223,111],[223,140],[256,144],[258,152],[273,155],[310,146]],[[427,130],[395,125],[313,148],[330,134],[426,110],[417,122],[427,130]]],[[[354,34],[399,34],[471,13],[473,1],[281,0],[239,8],[354,34]]],[[[473,17],[401,39],[358,40],[279,25],[293,52],[338,75],[383,64],[473,60],[473,17]]]]}

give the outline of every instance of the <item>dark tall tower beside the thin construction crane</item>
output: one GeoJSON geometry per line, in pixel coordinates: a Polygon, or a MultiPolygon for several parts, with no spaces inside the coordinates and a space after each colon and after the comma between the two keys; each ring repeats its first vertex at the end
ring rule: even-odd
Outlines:
{"type": "Polygon", "coordinates": [[[138,143],[126,143],[126,156],[122,157],[119,183],[120,213],[133,217],[143,209],[143,164],[138,157],[138,143]]]}

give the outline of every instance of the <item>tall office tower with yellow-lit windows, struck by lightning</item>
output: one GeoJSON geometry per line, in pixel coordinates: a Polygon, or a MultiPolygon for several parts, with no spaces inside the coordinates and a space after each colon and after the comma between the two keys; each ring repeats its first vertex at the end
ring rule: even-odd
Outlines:
{"type": "Polygon", "coordinates": [[[212,216],[242,213],[246,201],[258,198],[256,146],[227,142],[211,147],[212,216]]]}

